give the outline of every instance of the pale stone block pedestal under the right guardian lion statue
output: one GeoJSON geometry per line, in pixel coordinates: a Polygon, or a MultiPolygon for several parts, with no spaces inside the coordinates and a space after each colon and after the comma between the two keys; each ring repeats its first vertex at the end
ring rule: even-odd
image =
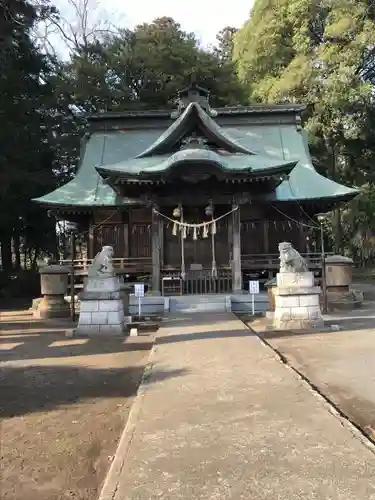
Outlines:
{"type": "Polygon", "coordinates": [[[313,273],[279,273],[276,280],[274,329],[319,328],[324,325],[320,288],[314,286],[313,273]]]}

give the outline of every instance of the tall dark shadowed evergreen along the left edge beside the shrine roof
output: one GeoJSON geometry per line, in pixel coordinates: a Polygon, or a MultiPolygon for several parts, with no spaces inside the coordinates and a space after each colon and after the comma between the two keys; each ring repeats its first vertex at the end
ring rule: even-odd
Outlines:
{"type": "Polygon", "coordinates": [[[51,11],[26,0],[0,9],[0,244],[5,272],[20,264],[20,246],[45,246],[54,223],[31,198],[56,186],[54,144],[60,120],[49,58],[32,39],[35,23],[51,11]],[[13,243],[13,245],[12,245],[13,243]]]}

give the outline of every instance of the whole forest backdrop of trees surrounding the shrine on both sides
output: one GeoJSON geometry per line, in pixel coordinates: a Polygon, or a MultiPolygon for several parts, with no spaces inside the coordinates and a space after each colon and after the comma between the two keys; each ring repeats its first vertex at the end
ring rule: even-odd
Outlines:
{"type": "Polygon", "coordinates": [[[172,108],[192,74],[213,107],[306,104],[316,169],[361,188],[325,221],[329,250],[374,266],[375,0],[256,0],[212,47],[169,17],[127,29],[68,1],[69,21],[47,0],[0,2],[0,289],[65,245],[31,199],[74,175],[85,113],[172,108]]]}

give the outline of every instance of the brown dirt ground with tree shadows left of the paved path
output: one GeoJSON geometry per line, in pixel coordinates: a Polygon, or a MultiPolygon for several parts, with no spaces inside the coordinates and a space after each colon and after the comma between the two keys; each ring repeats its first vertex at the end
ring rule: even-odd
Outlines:
{"type": "Polygon", "coordinates": [[[2,500],[96,500],[113,459],[153,337],[66,326],[0,313],[2,500]]]}

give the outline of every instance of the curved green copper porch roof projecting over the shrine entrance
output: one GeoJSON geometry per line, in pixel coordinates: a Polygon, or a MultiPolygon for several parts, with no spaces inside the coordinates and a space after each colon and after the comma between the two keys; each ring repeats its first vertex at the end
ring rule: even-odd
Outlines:
{"type": "Polygon", "coordinates": [[[133,160],[96,167],[101,175],[115,174],[125,177],[152,178],[166,174],[174,167],[186,162],[211,163],[227,173],[249,173],[259,175],[289,173],[296,161],[284,161],[260,155],[218,154],[210,149],[183,149],[172,155],[137,157],[133,160]]]}

